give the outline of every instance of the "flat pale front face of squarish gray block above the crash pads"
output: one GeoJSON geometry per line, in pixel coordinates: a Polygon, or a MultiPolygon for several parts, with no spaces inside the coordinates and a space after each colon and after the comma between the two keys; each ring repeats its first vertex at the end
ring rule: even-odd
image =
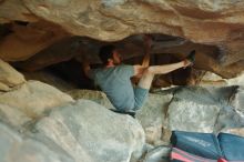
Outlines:
{"type": "Polygon", "coordinates": [[[210,133],[214,130],[218,112],[217,105],[174,99],[167,112],[169,126],[171,130],[210,133]]]}

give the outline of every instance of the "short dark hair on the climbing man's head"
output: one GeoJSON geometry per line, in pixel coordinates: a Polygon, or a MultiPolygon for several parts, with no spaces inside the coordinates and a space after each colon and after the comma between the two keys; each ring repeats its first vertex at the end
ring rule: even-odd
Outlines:
{"type": "Polygon", "coordinates": [[[100,48],[99,57],[103,64],[106,64],[108,60],[113,58],[114,50],[115,50],[115,47],[112,44],[103,45],[100,48]]]}

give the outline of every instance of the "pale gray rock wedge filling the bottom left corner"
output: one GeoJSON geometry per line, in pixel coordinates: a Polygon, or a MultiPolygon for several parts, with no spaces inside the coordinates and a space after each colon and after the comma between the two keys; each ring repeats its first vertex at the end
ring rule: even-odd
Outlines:
{"type": "Polygon", "coordinates": [[[19,134],[0,122],[0,161],[1,162],[74,162],[61,149],[47,146],[44,143],[19,134]]]}

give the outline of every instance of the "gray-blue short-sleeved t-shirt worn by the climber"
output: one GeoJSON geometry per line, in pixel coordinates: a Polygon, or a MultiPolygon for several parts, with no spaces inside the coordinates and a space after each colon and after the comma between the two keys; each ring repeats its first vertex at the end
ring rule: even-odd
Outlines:
{"type": "Polygon", "coordinates": [[[133,110],[135,107],[134,90],[130,80],[133,74],[133,65],[125,64],[89,72],[89,77],[105,92],[112,104],[123,111],[133,110]]]}

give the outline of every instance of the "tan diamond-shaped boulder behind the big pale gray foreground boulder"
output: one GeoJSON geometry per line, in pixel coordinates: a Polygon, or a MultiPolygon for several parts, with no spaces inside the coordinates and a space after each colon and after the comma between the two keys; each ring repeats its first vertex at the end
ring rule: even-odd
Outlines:
{"type": "Polygon", "coordinates": [[[10,92],[0,93],[0,103],[17,108],[29,118],[39,118],[45,110],[72,102],[58,89],[39,81],[28,81],[10,92]]]}

